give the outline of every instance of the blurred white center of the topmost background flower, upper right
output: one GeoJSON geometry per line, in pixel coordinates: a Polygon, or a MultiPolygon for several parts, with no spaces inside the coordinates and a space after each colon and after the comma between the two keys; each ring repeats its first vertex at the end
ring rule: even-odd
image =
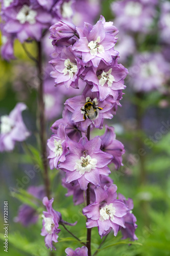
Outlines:
{"type": "Polygon", "coordinates": [[[142,13],[142,6],[137,2],[129,2],[125,6],[125,14],[128,16],[139,16],[142,13]]]}

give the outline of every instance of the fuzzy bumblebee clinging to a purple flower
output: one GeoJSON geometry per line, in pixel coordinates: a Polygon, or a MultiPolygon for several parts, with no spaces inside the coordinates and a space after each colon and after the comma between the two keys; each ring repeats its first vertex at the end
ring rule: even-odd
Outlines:
{"type": "Polygon", "coordinates": [[[87,117],[92,121],[95,120],[98,117],[99,111],[103,110],[103,108],[96,106],[95,102],[96,102],[96,98],[93,99],[93,101],[91,101],[89,97],[86,99],[84,108],[81,108],[81,111],[84,112],[84,116],[83,116],[84,121],[87,119],[87,117]]]}

